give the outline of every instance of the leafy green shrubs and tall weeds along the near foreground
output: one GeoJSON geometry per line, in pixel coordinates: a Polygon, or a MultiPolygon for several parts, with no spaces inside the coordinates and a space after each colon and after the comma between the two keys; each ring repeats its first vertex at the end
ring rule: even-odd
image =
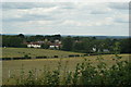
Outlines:
{"type": "Polygon", "coordinates": [[[13,75],[15,85],[47,85],[55,86],[85,86],[85,85],[114,85],[114,86],[131,86],[131,63],[121,61],[121,57],[116,54],[114,65],[108,66],[102,57],[96,59],[97,65],[93,65],[90,60],[84,59],[82,63],[78,63],[74,72],[68,71],[68,61],[61,73],[61,61],[58,62],[56,70],[48,70],[46,66],[43,73],[36,75],[36,70],[32,70],[27,75],[22,69],[21,76],[13,75]]]}

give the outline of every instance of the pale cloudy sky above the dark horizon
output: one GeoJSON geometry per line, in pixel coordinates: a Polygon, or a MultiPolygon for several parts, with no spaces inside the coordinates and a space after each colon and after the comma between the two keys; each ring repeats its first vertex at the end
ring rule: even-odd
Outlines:
{"type": "Polygon", "coordinates": [[[4,2],[3,34],[129,35],[127,2],[4,2]]]}

